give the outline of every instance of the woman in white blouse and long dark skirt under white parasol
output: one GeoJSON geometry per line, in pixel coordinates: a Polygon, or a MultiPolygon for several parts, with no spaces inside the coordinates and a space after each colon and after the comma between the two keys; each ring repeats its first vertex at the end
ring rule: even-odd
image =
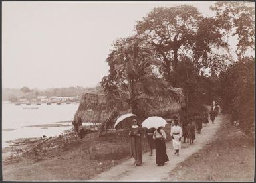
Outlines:
{"type": "Polygon", "coordinates": [[[169,158],[166,154],[166,133],[162,127],[158,127],[154,131],[153,139],[155,140],[156,147],[156,164],[158,166],[163,166],[165,162],[169,161],[169,158]]]}

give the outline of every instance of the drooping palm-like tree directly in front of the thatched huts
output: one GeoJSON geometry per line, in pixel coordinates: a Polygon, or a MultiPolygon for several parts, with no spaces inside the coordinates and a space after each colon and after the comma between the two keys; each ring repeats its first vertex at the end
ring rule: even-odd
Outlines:
{"type": "Polygon", "coordinates": [[[147,103],[147,96],[176,96],[154,70],[154,52],[140,38],[134,36],[117,40],[106,61],[110,74],[102,79],[102,87],[110,99],[114,97],[128,103],[132,113],[142,115],[139,101],[145,99],[144,103],[147,103]]]}

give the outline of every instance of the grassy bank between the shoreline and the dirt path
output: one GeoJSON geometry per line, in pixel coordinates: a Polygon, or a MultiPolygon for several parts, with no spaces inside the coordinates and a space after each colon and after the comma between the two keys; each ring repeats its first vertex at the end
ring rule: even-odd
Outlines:
{"type": "MultiPolygon", "coordinates": [[[[3,180],[88,180],[130,158],[128,131],[79,139],[75,133],[59,136],[3,162],[3,180]]],[[[143,151],[148,151],[146,138],[143,151]]],[[[7,151],[7,150],[5,150],[7,151]]]]}

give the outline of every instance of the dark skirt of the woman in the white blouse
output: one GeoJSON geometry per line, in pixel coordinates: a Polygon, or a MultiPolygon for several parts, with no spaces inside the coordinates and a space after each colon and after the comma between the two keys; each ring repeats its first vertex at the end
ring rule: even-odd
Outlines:
{"type": "Polygon", "coordinates": [[[156,164],[164,164],[169,160],[166,154],[166,143],[164,140],[156,139],[156,164]]]}

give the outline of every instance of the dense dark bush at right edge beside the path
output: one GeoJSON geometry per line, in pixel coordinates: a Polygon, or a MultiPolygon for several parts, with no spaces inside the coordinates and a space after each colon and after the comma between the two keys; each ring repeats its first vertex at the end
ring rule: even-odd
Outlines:
{"type": "Polygon", "coordinates": [[[254,130],[255,60],[243,58],[219,75],[219,94],[225,113],[248,135],[254,130]]]}

